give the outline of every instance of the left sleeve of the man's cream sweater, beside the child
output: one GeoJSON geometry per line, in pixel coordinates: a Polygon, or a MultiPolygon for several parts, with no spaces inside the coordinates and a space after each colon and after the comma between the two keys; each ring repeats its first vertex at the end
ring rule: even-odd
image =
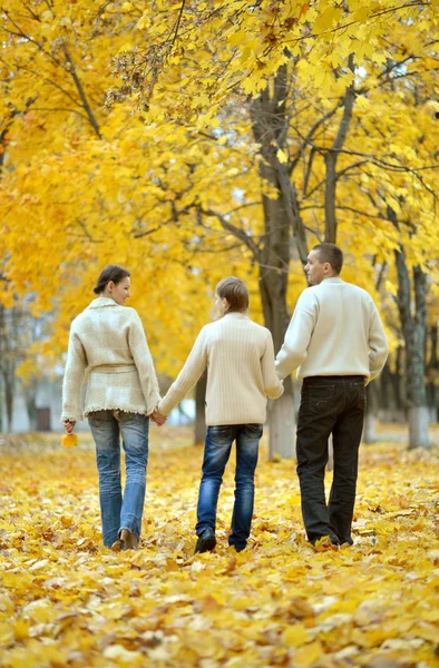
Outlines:
{"type": "Polygon", "coordinates": [[[285,341],[276,356],[277,377],[284,379],[306,360],[308,346],[316,322],[315,297],[304,291],[285,333],[285,341]]]}

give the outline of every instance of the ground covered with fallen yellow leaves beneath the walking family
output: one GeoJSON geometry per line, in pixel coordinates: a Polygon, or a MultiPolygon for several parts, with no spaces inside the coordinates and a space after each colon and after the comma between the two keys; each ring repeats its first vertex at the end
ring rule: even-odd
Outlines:
{"type": "Polygon", "coordinates": [[[100,547],[85,440],[1,448],[0,666],[439,665],[437,448],[362,446],[355,544],[338,552],[305,542],[293,464],[263,451],[252,541],[235,554],[232,464],[216,551],[194,557],[189,432],[152,432],[138,552],[100,547]]]}

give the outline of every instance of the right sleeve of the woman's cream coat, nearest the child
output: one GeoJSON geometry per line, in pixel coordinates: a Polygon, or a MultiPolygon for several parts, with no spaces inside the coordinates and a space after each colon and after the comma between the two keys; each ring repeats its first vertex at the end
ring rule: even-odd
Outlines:
{"type": "Polygon", "coordinates": [[[139,374],[147,415],[150,415],[154,413],[160,401],[160,393],[153,357],[150,356],[148,343],[146,341],[145,330],[142,320],[136,312],[134,312],[134,320],[128,330],[128,345],[139,374]]]}

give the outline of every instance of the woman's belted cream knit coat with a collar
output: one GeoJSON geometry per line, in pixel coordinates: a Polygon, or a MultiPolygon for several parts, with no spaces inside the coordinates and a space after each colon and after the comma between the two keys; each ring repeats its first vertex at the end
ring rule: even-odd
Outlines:
{"type": "Polygon", "coordinates": [[[71,324],[61,420],[82,420],[86,371],[85,418],[94,411],[117,409],[149,415],[159,402],[142,321],[134,308],[114,299],[94,299],[71,324]]]}

